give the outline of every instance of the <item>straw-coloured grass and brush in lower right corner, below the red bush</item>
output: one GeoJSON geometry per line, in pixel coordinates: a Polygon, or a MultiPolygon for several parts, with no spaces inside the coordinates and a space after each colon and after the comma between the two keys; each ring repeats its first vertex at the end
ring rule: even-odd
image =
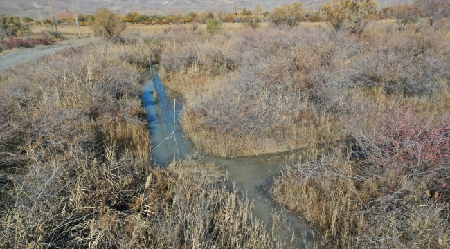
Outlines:
{"type": "Polygon", "coordinates": [[[271,194],[321,227],[327,248],[448,248],[449,204],[425,196],[424,179],[338,158],[282,167],[271,194]],[[402,189],[384,196],[389,179],[402,189]]]}

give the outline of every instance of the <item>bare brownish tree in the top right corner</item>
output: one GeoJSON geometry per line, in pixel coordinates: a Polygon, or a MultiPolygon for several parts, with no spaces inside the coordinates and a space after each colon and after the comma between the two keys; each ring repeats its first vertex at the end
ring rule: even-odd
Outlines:
{"type": "Polygon", "coordinates": [[[450,15],[450,0],[416,0],[415,4],[428,19],[431,28],[450,15]]]}

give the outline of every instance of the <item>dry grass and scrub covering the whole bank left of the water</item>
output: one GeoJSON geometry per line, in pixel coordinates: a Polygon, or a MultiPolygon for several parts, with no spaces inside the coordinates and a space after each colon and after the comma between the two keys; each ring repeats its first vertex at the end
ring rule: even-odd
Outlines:
{"type": "Polygon", "coordinates": [[[129,39],[1,72],[0,248],[278,248],[215,165],[150,167],[147,66],[129,39]]]}

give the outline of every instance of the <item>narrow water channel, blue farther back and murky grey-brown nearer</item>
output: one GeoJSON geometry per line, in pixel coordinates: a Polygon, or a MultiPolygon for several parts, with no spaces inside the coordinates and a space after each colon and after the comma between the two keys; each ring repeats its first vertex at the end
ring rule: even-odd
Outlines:
{"type": "MultiPolygon", "coordinates": [[[[155,166],[163,167],[174,160],[174,157],[178,160],[195,151],[192,142],[183,136],[178,121],[178,114],[183,108],[181,102],[174,104],[174,99],[170,98],[156,74],[153,74],[152,80],[146,82],[144,86],[143,103],[147,109],[152,144],[155,146],[152,150],[155,166]],[[157,97],[155,98],[155,96],[157,97]],[[175,143],[172,136],[175,137],[175,143]]],[[[245,197],[249,201],[253,201],[253,215],[264,221],[267,228],[271,228],[273,225],[272,214],[274,212],[283,214],[282,225],[276,235],[281,241],[284,241],[285,248],[316,248],[314,237],[317,235],[314,229],[310,228],[297,215],[286,212],[280,205],[273,203],[265,191],[273,176],[278,172],[278,165],[286,160],[285,155],[235,159],[205,156],[202,160],[214,162],[226,170],[228,179],[235,182],[237,187],[246,193],[245,197]]]]}

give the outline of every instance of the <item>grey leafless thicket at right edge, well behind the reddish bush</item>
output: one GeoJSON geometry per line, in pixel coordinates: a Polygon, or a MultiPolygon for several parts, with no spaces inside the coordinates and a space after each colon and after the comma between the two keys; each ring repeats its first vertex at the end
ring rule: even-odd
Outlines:
{"type": "Polygon", "coordinates": [[[450,77],[449,46],[442,43],[438,33],[422,30],[420,33],[394,33],[380,37],[379,44],[364,46],[366,54],[359,63],[364,65],[356,84],[383,86],[388,94],[417,95],[430,93],[439,86],[439,80],[450,77]]]}

